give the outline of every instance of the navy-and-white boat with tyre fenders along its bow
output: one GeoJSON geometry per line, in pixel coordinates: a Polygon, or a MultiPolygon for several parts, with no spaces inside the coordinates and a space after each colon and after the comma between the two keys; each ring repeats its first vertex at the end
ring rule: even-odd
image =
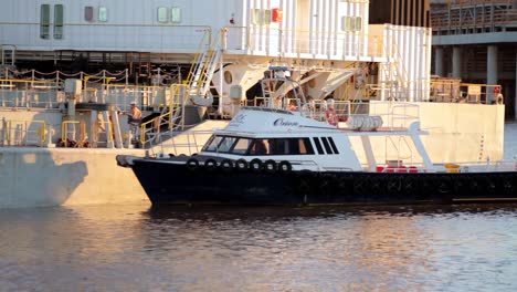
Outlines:
{"type": "Polygon", "coordinates": [[[154,206],[517,200],[516,160],[434,164],[418,121],[393,127],[383,126],[388,116],[381,115],[337,123],[309,115],[303,108],[243,107],[197,155],[119,155],[117,164],[133,169],[154,206]],[[362,149],[351,146],[354,137],[362,149]],[[376,138],[407,148],[379,161],[376,138]]]}

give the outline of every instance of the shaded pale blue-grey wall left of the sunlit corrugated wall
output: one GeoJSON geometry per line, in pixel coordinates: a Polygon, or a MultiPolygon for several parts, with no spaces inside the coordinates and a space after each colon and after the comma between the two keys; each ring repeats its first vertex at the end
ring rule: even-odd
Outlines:
{"type": "MultiPolygon", "coordinates": [[[[96,50],[191,52],[200,45],[203,28],[220,30],[242,25],[242,3],[239,0],[2,0],[0,10],[0,43],[15,44],[19,50],[96,50]],[[40,38],[40,7],[64,6],[64,38],[40,38]],[[95,8],[94,21],[86,21],[84,9],[95,8]],[[107,8],[107,22],[97,19],[98,7],[107,8]],[[180,23],[158,23],[158,7],[180,7],[180,23]],[[203,9],[200,9],[203,8],[203,9]]],[[[170,10],[169,10],[170,13],[170,10]]],[[[169,14],[170,17],[170,14],[169,14]]]]}

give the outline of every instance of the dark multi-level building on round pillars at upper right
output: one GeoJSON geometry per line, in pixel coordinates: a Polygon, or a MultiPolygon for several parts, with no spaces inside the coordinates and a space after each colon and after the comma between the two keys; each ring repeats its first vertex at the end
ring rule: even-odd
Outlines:
{"type": "Polygon", "coordinates": [[[463,83],[500,84],[506,119],[516,118],[517,1],[431,0],[433,74],[463,83]]]}

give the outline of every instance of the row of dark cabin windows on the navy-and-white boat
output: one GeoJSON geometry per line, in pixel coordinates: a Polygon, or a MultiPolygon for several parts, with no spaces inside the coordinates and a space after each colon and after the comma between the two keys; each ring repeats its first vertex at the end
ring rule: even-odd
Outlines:
{"type": "MultiPolygon", "coordinates": [[[[314,137],[318,154],[339,154],[331,137],[314,137]]],[[[231,153],[236,155],[314,155],[309,138],[253,139],[233,136],[212,136],[203,152],[231,153]]]]}

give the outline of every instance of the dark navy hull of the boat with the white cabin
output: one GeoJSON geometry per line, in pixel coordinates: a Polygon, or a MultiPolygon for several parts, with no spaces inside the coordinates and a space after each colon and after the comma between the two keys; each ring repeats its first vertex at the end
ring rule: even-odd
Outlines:
{"type": "Polygon", "coordinates": [[[517,200],[517,171],[313,173],[188,167],[137,159],[154,205],[425,204],[517,200]]]}

